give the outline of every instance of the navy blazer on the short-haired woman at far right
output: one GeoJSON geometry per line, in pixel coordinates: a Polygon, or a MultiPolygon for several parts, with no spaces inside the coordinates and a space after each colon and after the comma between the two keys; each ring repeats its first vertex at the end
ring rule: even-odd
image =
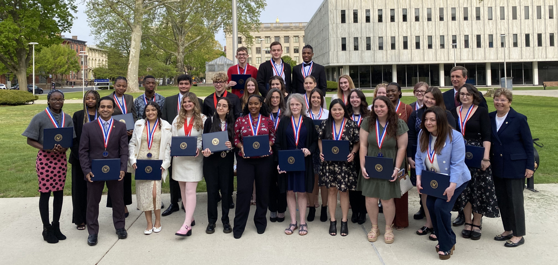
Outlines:
{"type": "Polygon", "coordinates": [[[492,124],[492,175],[503,179],[522,179],[526,169],[535,170],[533,138],[527,117],[509,108],[502,127],[496,131],[496,112],[488,115],[492,124]]]}

